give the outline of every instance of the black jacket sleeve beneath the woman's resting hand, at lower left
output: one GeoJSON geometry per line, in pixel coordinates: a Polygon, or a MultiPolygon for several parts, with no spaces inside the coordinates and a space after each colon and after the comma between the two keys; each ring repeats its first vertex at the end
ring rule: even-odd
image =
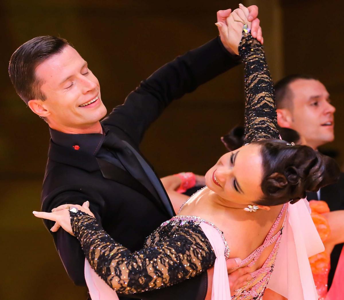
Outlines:
{"type": "MultiPolygon", "coordinates": [[[[95,215],[97,221],[101,223],[102,211],[105,208],[104,201],[95,193],[87,191],[83,187],[63,187],[48,195],[42,203],[42,211],[51,212],[55,207],[62,204],[82,205],[89,201],[90,210],[95,215]]],[[[48,230],[55,222],[43,220],[48,230]]],[[[50,231],[51,232],[51,231],[50,231]]],[[[84,265],[85,256],[80,248],[79,241],[68,232],[60,228],[57,232],[51,232],[58,255],[62,260],[66,272],[75,285],[85,286],[84,265]]]]}

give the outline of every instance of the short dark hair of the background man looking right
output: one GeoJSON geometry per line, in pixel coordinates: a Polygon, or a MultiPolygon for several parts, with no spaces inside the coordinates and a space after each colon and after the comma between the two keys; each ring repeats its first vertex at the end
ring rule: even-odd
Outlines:
{"type": "Polygon", "coordinates": [[[293,98],[293,94],[289,89],[289,84],[298,79],[318,80],[315,77],[303,74],[293,74],[282,78],[274,86],[276,108],[289,108],[289,110],[292,109],[293,102],[291,100],[293,98]]]}

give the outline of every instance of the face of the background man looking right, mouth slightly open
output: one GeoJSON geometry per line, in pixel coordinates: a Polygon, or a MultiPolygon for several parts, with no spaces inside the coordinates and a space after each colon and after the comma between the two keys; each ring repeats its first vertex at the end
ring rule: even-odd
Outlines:
{"type": "Polygon", "coordinates": [[[292,120],[305,143],[317,148],[334,139],[334,112],[330,95],[318,80],[298,79],[289,84],[292,92],[292,120]]]}

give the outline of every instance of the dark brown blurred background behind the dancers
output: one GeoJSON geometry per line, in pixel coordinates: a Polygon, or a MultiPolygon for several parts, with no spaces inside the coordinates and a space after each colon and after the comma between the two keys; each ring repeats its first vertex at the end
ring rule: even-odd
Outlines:
{"type": "MultiPolygon", "coordinates": [[[[237,0],[238,1],[238,0],[237,0]]],[[[11,54],[38,35],[73,43],[101,83],[108,108],[175,56],[217,35],[216,11],[237,1],[1,0],[0,299],[85,299],[67,277],[42,221],[40,192],[47,158],[47,124],[15,94],[11,54]]],[[[292,73],[318,77],[337,108],[335,142],[343,163],[343,11],[339,1],[243,1],[259,6],[265,51],[274,81],[292,73]]],[[[238,66],[175,101],[147,132],[142,151],[162,177],[204,174],[225,153],[220,136],[243,123],[243,67],[238,66]]]]}

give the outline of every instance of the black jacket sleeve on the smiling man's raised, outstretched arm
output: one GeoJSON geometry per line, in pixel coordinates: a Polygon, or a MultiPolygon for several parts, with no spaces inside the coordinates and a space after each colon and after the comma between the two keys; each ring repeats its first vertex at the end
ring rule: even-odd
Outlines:
{"type": "Polygon", "coordinates": [[[114,108],[103,124],[121,128],[138,145],[149,125],[171,101],[237,64],[239,57],[230,55],[215,38],[155,71],[128,95],[124,104],[114,108]]]}

